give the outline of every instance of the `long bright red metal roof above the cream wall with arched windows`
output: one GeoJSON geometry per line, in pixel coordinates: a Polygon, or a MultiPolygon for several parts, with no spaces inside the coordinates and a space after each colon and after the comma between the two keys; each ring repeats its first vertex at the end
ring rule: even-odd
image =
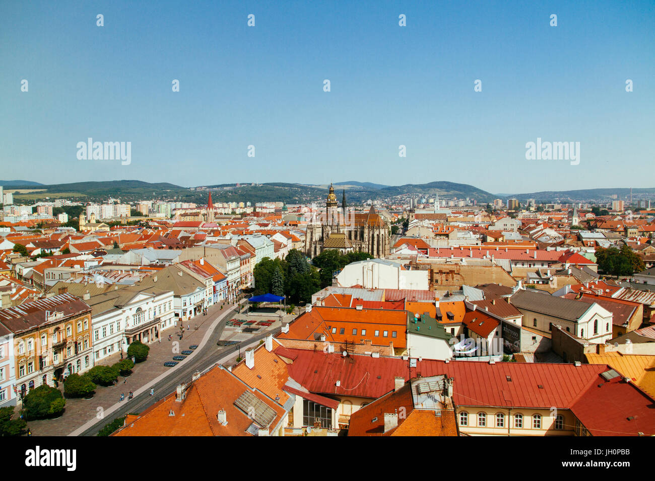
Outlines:
{"type": "Polygon", "coordinates": [[[568,408],[598,374],[608,370],[607,365],[490,365],[426,359],[417,361],[417,367],[410,368],[408,361],[398,357],[343,357],[337,353],[303,349],[284,349],[284,352],[276,349],[276,353],[295,357],[289,366],[290,377],[314,393],[377,399],[393,391],[396,376],[407,381],[410,376],[414,378],[418,374],[422,377],[447,374],[455,378],[453,401],[458,406],[568,408]],[[340,381],[339,386],[337,381],[340,381]]]}

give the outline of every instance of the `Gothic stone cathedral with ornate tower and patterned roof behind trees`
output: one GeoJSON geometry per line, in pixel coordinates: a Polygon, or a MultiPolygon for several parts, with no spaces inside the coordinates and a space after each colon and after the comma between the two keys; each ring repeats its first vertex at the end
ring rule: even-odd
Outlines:
{"type": "Polygon", "coordinates": [[[344,191],[339,207],[334,187],[330,185],[324,219],[307,224],[305,255],[316,257],[324,249],[339,249],[342,252],[357,251],[384,257],[389,253],[389,242],[389,225],[372,205],[368,213],[354,213],[352,209],[346,209],[344,191]]]}

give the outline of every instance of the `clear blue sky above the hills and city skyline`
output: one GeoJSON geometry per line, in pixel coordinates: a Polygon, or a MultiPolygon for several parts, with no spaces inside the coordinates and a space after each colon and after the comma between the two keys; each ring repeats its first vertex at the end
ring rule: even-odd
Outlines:
{"type": "Polygon", "coordinates": [[[1,179],[655,187],[653,1],[4,1],[0,65],[1,179]]]}

